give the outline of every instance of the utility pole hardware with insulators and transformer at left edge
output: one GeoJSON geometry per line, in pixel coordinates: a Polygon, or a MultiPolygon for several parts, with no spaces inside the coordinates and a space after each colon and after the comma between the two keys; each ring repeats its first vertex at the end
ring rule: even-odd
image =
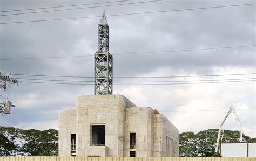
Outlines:
{"type": "MultiPolygon", "coordinates": [[[[7,89],[6,86],[8,83],[18,85],[19,82],[16,79],[10,78],[10,76],[0,72],[0,88],[3,88],[4,92],[7,89]]],[[[2,95],[0,95],[0,96],[2,96],[2,95]]],[[[8,98],[5,98],[5,99],[6,99],[6,101],[3,101],[3,103],[0,102],[0,116],[2,116],[3,114],[10,114],[11,107],[15,107],[15,105],[13,105],[11,101],[8,101],[8,98]]]]}

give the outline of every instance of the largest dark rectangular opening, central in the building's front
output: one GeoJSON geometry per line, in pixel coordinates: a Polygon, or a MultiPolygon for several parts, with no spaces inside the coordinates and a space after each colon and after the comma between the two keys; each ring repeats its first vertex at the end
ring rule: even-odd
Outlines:
{"type": "Polygon", "coordinates": [[[105,146],[105,125],[92,126],[92,146],[105,146]]]}

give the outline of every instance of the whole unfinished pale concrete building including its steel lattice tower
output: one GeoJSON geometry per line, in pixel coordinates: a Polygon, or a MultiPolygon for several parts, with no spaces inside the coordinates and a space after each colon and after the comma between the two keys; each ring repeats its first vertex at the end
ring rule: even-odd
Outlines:
{"type": "Polygon", "coordinates": [[[112,55],[105,15],[95,53],[95,95],[59,112],[59,156],[178,157],[179,131],[157,110],[112,95],[112,55]]]}

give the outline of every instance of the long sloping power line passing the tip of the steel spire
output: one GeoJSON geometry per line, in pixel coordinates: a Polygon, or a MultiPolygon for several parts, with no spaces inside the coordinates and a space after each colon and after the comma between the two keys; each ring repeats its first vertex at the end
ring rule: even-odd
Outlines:
{"type": "MultiPolygon", "coordinates": [[[[223,5],[223,6],[210,6],[210,7],[205,7],[205,8],[190,8],[190,9],[166,10],[166,11],[151,11],[151,12],[138,12],[138,13],[124,13],[124,14],[117,14],[117,15],[108,15],[108,16],[106,16],[106,17],[127,16],[127,15],[141,15],[141,14],[149,14],[149,13],[164,13],[164,12],[176,12],[176,11],[189,11],[189,10],[202,10],[202,9],[215,9],[215,8],[228,8],[228,7],[234,7],[234,6],[246,6],[246,5],[255,5],[255,4],[256,4],[256,3],[237,4],[237,5],[223,5]]],[[[48,22],[48,21],[55,21],[55,20],[85,19],[85,18],[99,18],[99,17],[102,17],[102,16],[88,16],[88,17],[74,17],[74,18],[58,18],[58,19],[28,20],[28,21],[19,21],[19,22],[4,22],[4,23],[0,23],[0,24],[48,22]]]]}

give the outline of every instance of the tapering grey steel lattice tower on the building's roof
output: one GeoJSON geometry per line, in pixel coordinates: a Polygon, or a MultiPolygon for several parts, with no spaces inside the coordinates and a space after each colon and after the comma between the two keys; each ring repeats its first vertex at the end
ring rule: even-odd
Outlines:
{"type": "Polygon", "coordinates": [[[100,19],[98,52],[95,53],[95,95],[112,94],[113,57],[109,53],[109,25],[105,11],[100,19]]]}

